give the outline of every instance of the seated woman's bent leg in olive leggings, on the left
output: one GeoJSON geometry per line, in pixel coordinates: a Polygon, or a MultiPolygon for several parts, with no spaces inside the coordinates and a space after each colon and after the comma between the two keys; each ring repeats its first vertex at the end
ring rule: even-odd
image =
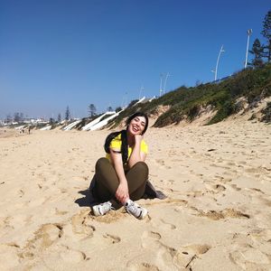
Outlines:
{"type": "Polygon", "coordinates": [[[107,158],[99,158],[96,163],[95,192],[101,201],[115,198],[118,187],[117,173],[107,158]]]}

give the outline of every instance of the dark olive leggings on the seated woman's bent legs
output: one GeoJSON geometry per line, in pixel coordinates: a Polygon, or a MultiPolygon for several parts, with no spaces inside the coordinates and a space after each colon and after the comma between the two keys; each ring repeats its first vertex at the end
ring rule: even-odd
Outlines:
{"type": "MultiPolygon", "coordinates": [[[[145,183],[149,169],[144,162],[137,162],[126,172],[130,199],[139,200],[145,193],[145,183]]],[[[107,158],[100,158],[96,163],[95,194],[100,201],[115,199],[119,181],[114,166],[107,158]]]]}

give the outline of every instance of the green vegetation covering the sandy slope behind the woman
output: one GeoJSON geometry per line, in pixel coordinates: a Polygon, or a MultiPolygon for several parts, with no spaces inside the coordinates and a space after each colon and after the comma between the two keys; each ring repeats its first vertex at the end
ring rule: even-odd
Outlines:
{"type": "Polygon", "coordinates": [[[237,103],[238,98],[246,98],[249,107],[254,107],[260,99],[269,96],[271,96],[271,63],[266,63],[258,69],[241,70],[220,83],[201,84],[194,88],[182,86],[151,102],[127,107],[114,122],[117,126],[123,118],[138,110],[152,115],[158,113],[159,106],[168,106],[169,109],[154,123],[155,127],[163,127],[178,124],[182,119],[192,121],[202,108],[210,107],[216,111],[216,115],[208,123],[210,125],[238,113],[242,108],[237,103]]]}

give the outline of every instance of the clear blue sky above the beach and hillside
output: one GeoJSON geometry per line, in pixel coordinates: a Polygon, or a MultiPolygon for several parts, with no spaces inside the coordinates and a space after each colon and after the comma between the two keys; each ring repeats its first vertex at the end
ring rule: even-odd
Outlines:
{"type": "MultiPolygon", "coordinates": [[[[0,0],[0,118],[86,117],[244,66],[271,5],[259,0],[0,0]]],[[[249,59],[249,57],[248,57],[249,59]]]]}

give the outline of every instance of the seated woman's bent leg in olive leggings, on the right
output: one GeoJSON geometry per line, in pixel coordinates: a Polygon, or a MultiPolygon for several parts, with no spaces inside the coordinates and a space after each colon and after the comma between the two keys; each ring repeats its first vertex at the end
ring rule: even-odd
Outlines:
{"type": "Polygon", "coordinates": [[[149,169],[145,162],[137,162],[127,173],[126,180],[130,199],[139,200],[145,193],[145,183],[148,179],[149,169]]]}

